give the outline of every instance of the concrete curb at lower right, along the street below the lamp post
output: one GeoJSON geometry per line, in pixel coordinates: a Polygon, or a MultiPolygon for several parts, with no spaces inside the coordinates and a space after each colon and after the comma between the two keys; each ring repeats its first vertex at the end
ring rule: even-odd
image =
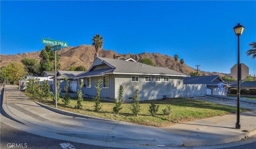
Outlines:
{"type": "Polygon", "coordinates": [[[230,135],[226,137],[218,137],[218,138],[212,138],[212,139],[206,139],[206,140],[182,140],[183,144],[186,147],[194,147],[194,146],[208,146],[208,145],[220,145],[224,143],[231,143],[235,141],[240,141],[241,139],[244,139],[245,137],[251,137],[253,135],[256,135],[256,128],[252,129],[250,132],[244,132],[237,135],[230,135]]]}

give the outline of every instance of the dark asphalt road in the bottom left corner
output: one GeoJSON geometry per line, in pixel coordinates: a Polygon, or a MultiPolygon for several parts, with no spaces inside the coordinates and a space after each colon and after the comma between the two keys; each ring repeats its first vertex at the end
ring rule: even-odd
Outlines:
{"type": "Polygon", "coordinates": [[[100,147],[82,143],[62,141],[33,135],[1,122],[0,127],[0,148],[1,149],[117,149],[111,147],[100,147]],[[14,143],[14,144],[12,144],[14,143]],[[62,144],[64,143],[64,144],[62,144]],[[67,144],[70,143],[70,144],[67,144]],[[62,144],[62,146],[60,145],[62,144]],[[14,146],[12,146],[14,145],[14,146]],[[71,146],[73,145],[73,146],[71,146]],[[68,148],[70,147],[70,148],[68,148]]]}

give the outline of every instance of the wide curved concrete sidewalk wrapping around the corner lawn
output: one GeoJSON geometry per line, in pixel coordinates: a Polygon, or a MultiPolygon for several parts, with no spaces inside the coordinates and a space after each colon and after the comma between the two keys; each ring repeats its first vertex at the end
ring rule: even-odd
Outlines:
{"type": "MultiPolygon", "coordinates": [[[[254,106],[255,107],[255,106],[254,106]]],[[[217,116],[170,127],[150,127],[118,121],[94,120],[52,112],[30,101],[16,86],[6,85],[3,110],[16,121],[1,115],[1,122],[44,137],[108,147],[155,148],[216,145],[240,141],[256,133],[255,111],[241,114],[241,129],[235,129],[236,115],[217,116]],[[249,133],[242,130],[248,130],[249,133]]],[[[253,108],[253,107],[252,107],[253,108]]]]}

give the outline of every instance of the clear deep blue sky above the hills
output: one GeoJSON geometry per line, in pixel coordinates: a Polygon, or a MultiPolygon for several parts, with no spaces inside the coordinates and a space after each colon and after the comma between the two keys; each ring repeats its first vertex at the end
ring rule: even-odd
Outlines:
{"type": "Polygon", "coordinates": [[[241,63],[256,41],[256,1],[0,1],[1,54],[40,51],[42,38],[69,46],[92,44],[104,36],[104,49],[117,53],[161,53],[193,68],[230,73],[237,63],[237,36],[244,25],[241,63]]]}

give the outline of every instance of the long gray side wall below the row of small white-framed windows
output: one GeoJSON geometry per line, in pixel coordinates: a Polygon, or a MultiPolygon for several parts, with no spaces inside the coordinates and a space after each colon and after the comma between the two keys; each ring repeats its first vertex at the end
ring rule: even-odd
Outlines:
{"type": "Polygon", "coordinates": [[[114,74],[115,78],[115,98],[118,98],[119,85],[124,88],[123,101],[131,102],[136,89],[140,96],[140,100],[156,100],[167,98],[183,97],[183,77],[169,76],[169,82],[155,82],[155,76],[152,76],[152,82],[145,82],[145,76],[139,75],[139,82],[131,82],[132,75],[114,74]]]}

